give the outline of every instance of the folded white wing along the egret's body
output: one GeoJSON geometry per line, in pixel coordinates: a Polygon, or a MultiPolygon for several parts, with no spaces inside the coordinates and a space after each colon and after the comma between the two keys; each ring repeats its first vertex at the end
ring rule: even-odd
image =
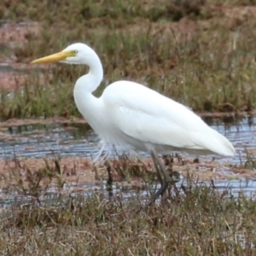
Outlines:
{"type": "Polygon", "coordinates": [[[141,84],[118,83],[123,84],[112,84],[103,98],[112,123],[125,135],[143,143],[210,150],[217,154],[232,148],[225,137],[182,104],[141,84]]]}

